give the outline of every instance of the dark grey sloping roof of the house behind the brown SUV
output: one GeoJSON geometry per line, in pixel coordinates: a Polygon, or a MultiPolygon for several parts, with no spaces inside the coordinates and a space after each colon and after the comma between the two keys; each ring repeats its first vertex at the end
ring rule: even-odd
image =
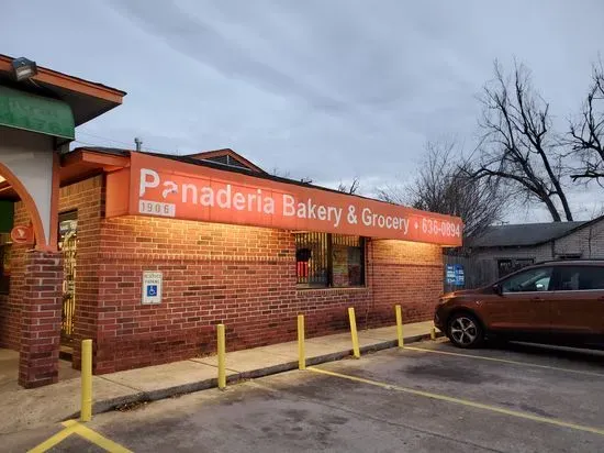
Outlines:
{"type": "Polygon", "coordinates": [[[470,247],[513,247],[537,245],[562,237],[589,222],[524,223],[489,226],[486,231],[468,241],[470,247]]]}

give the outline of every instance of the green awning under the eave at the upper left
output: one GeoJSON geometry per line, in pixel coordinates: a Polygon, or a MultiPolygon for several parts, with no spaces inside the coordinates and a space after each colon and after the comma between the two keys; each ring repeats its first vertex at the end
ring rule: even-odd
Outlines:
{"type": "Polygon", "coordinates": [[[0,125],[75,140],[71,108],[59,100],[0,86],[0,125]]]}

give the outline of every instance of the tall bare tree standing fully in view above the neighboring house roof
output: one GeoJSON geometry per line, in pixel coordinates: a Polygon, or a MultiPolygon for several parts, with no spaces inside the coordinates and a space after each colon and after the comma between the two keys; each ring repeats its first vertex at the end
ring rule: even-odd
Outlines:
{"type": "Polygon", "coordinates": [[[552,220],[572,220],[562,187],[564,165],[560,142],[551,130],[549,104],[533,89],[530,74],[515,64],[505,77],[495,62],[495,78],[484,87],[478,148],[480,163],[472,174],[479,179],[505,183],[525,202],[544,203],[552,220]]]}

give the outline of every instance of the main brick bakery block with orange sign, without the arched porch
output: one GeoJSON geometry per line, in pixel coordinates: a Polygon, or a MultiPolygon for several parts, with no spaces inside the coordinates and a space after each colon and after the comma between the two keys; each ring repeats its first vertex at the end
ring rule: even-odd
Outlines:
{"type": "MultiPolygon", "coordinates": [[[[298,313],[310,336],[345,330],[348,307],[361,329],[392,324],[395,303],[428,320],[441,248],[460,242],[458,219],[273,177],[231,150],[80,148],[61,166],[61,339],[75,367],[92,339],[97,374],[212,353],[219,322],[237,350],[293,340],[298,313]],[[145,273],[160,273],[159,303],[145,273]]],[[[13,216],[26,222],[21,201],[13,216]]],[[[1,347],[22,339],[26,254],[10,245],[1,347]]]]}

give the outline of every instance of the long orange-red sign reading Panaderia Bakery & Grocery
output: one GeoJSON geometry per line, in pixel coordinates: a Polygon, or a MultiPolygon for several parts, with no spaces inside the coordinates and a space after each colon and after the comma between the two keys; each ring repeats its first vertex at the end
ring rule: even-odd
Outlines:
{"type": "Polygon", "coordinates": [[[142,153],[108,176],[105,212],[448,246],[461,245],[462,236],[459,218],[142,153]]]}

